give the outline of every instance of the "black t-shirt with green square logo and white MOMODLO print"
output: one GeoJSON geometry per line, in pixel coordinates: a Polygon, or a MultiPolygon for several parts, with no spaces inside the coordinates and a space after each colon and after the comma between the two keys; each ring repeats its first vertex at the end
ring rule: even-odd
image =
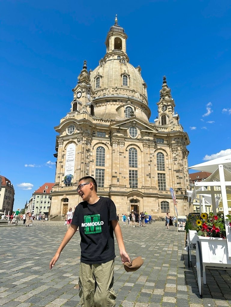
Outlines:
{"type": "Polygon", "coordinates": [[[75,208],[72,224],[79,227],[81,262],[105,263],[115,258],[114,231],[110,221],[117,221],[114,202],[100,197],[97,203],[82,201],[75,208]]]}

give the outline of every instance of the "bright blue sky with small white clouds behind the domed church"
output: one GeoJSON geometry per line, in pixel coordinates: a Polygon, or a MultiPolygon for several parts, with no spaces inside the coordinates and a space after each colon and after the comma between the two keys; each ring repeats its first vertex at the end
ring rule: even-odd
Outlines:
{"type": "Polygon", "coordinates": [[[70,110],[83,60],[94,69],[104,56],[115,14],[148,86],[150,122],[166,75],[191,141],[189,166],[231,153],[231,2],[86,3],[0,3],[0,174],[14,185],[14,209],[54,182],[54,126],[70,110]]]}

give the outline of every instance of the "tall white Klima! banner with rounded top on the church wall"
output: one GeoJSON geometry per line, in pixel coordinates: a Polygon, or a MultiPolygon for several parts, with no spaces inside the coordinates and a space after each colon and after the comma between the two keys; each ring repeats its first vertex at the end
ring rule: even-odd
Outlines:
{"type": "Polygon", "coordinates": [[[66,164],[64,171],[64,184],[74,183],[75,144],[69,144],[66,149],[66,164]]]}

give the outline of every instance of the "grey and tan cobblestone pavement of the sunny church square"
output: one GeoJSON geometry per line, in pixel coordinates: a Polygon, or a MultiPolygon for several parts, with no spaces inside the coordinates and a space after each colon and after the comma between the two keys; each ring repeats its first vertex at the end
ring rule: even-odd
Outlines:
{"type": "MultiPolygon", "coordinates": [[[[176,227],[167,230],[164,222],[139,228],[121,225],[121,229],[130,258],[141,255],[144,264],[128,273],[120,257],[115,258],[116,306],[231,306],[230,271],[206,269],[205,295],[200,297],[194,251],[193,266],[187,265],[185,232],[177,232],[176,227]]],[[[79,233],[54,268],[48,268],[65,232],[63,222],[34,221],[32,227],[25,227],[20,221],[17,227],[0,227],[0,305],[78,306],[79,233]]]]}

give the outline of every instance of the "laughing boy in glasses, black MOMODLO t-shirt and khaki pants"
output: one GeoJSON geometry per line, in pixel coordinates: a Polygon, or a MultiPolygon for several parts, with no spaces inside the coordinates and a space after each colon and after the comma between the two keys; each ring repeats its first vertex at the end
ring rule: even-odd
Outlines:
{"type": "Polygon", "coordinates": [[[93,177],[81,178],[77,192],[83,201],[75,208],[70,228],[50,262],[50,269],[79,227],[81,236],[80,305],[114,307],[116,295],[112,288],[115,258],[113,232],[117,239],[122,263],[131,262],[117,221],[116,207],[110,198],[97,196],[97,184],[93,177]]]}

